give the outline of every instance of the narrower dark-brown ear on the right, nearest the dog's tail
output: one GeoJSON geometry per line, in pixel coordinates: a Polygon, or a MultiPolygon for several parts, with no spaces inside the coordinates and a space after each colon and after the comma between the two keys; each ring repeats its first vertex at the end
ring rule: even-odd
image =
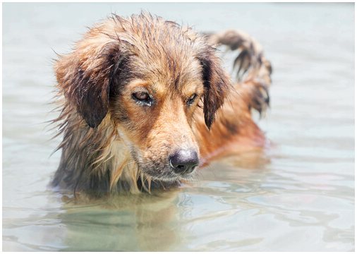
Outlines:
{"type": "Polygon", "coordinates": [[[222,69],[212,47],[206,47],[205,51],[198,55],[198,60],[202,66],[202,80],[205,87],[203,113],[206,126],[210,128],[217,109],[224,103],[224,98],[231,87],[231,80],[222,69]]]}

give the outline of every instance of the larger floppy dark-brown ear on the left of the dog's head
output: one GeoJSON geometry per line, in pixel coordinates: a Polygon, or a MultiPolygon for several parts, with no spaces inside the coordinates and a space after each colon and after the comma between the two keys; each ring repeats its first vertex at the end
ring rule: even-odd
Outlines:
{"type": "Polygon", "coordinates": [[[119,59],[119,42],[89,32],[71,54],[54,66],[59,89],[87,124],[95,128],[106,116],[112,71],[119,59]]]}

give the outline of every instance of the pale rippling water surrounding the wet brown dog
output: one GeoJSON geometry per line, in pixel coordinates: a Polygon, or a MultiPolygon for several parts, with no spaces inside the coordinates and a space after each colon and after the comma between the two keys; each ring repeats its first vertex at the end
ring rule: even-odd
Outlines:
{"type": "MultiPolygon", "coordinates": [[[[4,250],[354,250],[353,4],[3,4],[4,250]],[[226,159],[159,195],[73,203],[47,187],[54,51],[143,8],[246,30],[274,74],[256,162],[226,159]],[[53,50],[54,51],[53,51],[53,50]]],[[[227,63],[227,65],[230,63],[227,63]]]]}

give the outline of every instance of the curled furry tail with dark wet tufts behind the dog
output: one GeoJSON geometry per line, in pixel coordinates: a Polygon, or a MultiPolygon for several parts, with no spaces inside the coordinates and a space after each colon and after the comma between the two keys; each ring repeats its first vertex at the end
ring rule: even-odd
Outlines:
{"type": "Polygon", "coordinates": [[[269,87],[272,83],[272,65],[262,50],[262,46],[246,32],[227,30],[222,33],[205,33],[208,42],[214,46],[225,45],[232,52],[238,52],[233,70],[239,85],[250,90],[250,107],[260,114],[269,107],[269,87]]]}

